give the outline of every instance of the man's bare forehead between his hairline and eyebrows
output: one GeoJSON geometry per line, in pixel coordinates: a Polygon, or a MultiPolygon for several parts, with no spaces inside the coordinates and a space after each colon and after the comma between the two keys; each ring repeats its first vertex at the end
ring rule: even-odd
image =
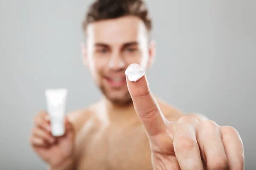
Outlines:
{"type": "Polygon", "coordinates": [[[142,20],[137,17],[120,17],[90,23],[87,27],[87,39],[93,42],[120,44],[138,42],[147,37],[147,30],[142,20]]]}

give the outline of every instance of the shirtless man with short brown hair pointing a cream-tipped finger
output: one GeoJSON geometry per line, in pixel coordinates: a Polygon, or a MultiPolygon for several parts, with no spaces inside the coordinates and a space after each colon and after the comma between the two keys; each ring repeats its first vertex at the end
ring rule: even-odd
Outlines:
{"type": "Polygon", "coordinates": [[[151,94],[145,72],[155,43],[142,0],[96,0],[83,26],[84,64],[103,98],[68,114],[61,137],[46,112],[35,116],[30,142],[50,170],[244,169],[233,127],[184,116],[151,94]]]}

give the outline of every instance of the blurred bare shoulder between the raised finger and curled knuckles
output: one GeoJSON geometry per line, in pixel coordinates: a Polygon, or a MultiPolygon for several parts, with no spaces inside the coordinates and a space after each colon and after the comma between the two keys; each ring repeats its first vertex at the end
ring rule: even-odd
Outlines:
{"type": "Polygon", "coordinates": [[[157,103],[163,113],[163,115],[168,119],[169,121],[176,121],[178,120],[181,116],[184,116],[185,113],[181,111],[180,109],[176,108],[173,105],[168,104],[166,101],[163,99],[157,98],[157,103]]]}

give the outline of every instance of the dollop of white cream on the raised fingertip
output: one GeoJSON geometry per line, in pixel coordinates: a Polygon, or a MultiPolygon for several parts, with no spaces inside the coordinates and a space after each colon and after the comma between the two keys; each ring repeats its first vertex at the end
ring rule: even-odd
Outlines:
{"type": "Polygon", "coordinates": [[[140,65],[134,63],[128,66],[125,71],[125,75],[128,77],[130,82],[136,82],[144,76],[144,70],[140,65]]]}

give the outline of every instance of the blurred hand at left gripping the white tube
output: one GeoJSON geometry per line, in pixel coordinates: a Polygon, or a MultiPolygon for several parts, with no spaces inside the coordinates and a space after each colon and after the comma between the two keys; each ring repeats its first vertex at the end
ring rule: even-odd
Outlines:
{"type": "Polygon", "coordinates": [[[49,164],[52,169],[61,168],[73,161],[75,133],[73,125],[65,119],[64,136],[51,134],[48,113],[40,112],[34,117],[34,127],[30,136],[30,144],[35,152],[49,164]]]}

